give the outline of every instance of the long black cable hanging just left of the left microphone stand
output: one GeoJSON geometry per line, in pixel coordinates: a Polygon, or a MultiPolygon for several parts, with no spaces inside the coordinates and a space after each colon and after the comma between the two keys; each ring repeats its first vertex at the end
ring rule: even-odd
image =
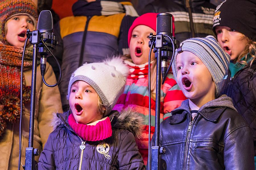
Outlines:
{"type": "Polygon", "coordinates": [[[18,170],[20,170],[20,161],[21,161],[21,128],[22,128],[22,109],[23,109],[23,92],[22,92],[22,87],[23,87],[23,65],[24,65],[24,56],[25,56],[25,51],[26,51],[26,46],[28,42],[28,37],[25,40],[24,48],[23,48],[23,53],[22,53],[22,60],[21,60],[21,73],[20,73],[20,129],[19,129],[19,162],[18,162],[18,170]]]}

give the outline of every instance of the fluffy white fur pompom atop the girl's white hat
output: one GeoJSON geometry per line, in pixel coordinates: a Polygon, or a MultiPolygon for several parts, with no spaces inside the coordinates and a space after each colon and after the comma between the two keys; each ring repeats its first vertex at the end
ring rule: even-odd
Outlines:
{"type": "Polygon", "coordinates": [[[129,67],[124,63],[120,56],[108,58],[103,61],[105,64],[114,66],[115,70],[122,73],[123,76],[127,77],[129,74],[129,67]]]}

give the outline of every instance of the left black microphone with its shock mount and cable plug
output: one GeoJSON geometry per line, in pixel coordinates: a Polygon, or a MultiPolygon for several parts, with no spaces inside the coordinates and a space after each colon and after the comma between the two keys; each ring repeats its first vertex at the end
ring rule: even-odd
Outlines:
{"type": "Polygon", "coordinates": [[[51,56],[51,53],[46,49],[44,43],[49,48],[49,50],[54,50],[55,45],[59,45],[58,37],[55,37],[53,33],[53,17],[51,11],[43,10],[40,12],[38,17],[37,30],[40,32],[40,43],[38,44],[38,56],[41,57],[40,60],[40,70],[41,75],[45,74],[46,70],[46,60],[47,57],[51,56]],[[44,41],[44,43],[42,42],[44,41]]]}

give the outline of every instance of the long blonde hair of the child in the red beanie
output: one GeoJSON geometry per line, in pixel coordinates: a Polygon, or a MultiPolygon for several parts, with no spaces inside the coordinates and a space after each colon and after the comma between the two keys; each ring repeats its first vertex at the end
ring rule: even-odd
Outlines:
{"type": "MultiPolygon", "coordinates": [[[[127,54],[123,57],[123,60],[129,60],[133,63],[133,60],[131,59],[131,55],[127,54]]],[[[147,76],[148,79],[148,76],[147,76]]],[[[162,76],[161,76],[161,82],[162,82],[162,76]]],[[[150,66],[150,86],[151,86],[151,98],[156,100],[156,59],[153,60],[150,66]]],[[[162,99],[161,99],[162,100],[162,99]]]]}

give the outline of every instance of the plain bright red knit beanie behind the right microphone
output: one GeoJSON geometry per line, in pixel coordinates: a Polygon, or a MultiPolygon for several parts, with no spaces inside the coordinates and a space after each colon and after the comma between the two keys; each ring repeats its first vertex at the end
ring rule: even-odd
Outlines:
{"type": "MultiPolygon", "coordinates": [[[[128,32],[128,46],[130,46],[133,29],[135,27],[137,27],[138,25],[146,25],[146,26],[152,28],[154,31],[156,31],[156,15],[157,14],[158,13],[146,13],[146,14],[139,16],[138,18],[136,18],[133,21],[133,24],[131,25],[129,32],[128,32]]],[[[174,32],[175,32],[174,16],[172,16],[172,27],[173,27],[172,35],[174,36],[174,32]]]]}

